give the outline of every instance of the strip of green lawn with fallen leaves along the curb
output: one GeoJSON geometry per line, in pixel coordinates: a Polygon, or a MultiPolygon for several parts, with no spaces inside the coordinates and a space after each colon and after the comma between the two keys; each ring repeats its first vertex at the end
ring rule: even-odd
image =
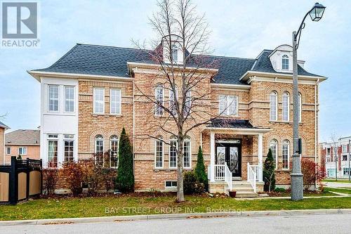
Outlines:
{"type": "Polygon", "coordinates": [[[284,199],[235,200],[230,197],[186,196],[187,202],[181,204],[174,200],[173,195],[39,199],[15,206],[1,205],[0,220],[218,212],[223,209],[256,211],[351,208],[351,197],[309,198],[291,202],[284,199]]]}

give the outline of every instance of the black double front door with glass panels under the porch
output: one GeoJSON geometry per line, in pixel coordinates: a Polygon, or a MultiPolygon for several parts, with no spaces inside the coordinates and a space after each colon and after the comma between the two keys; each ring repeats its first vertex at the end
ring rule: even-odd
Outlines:
{"type": "Polygon", "coordinates": [[[241,145],[216,143],[216,164],[227,163],[233,176],[241,176],[241,145]]]}

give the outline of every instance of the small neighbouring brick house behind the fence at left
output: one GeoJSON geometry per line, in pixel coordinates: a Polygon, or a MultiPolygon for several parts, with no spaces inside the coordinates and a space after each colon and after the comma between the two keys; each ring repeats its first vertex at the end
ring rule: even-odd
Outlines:
{"type": "Polygon", "coordinates": [[[22,159],[40,159],[40,130],[18,129],[5,135],[5,163],[11,163],[11,156],[22,159]]]}

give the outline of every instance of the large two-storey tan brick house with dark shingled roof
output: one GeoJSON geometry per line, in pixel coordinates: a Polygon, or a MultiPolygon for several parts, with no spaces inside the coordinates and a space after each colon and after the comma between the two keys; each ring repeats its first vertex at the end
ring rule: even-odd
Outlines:
{"type": "MultiPolygon", "coordinates": [[[[272,148],[277,186],[289,187],[293,154],[291,46],[264,50],[257,58],[208,58],[217,60],[218,67],[211,69],[211,79],[201,84],[203,89],[211,90],[211,98],[204,100],[203,108],[214,116],[226,111],[221,119],[188,134],[185,170],[196,166],[201,145],[206,169],[210,169],[210,191],[223,193],[229,185],[215,174],[215,170],[227,167],[225,162],[230,166],[235,188],[241,181],[250,186],[248,174],[256,171],[257,188],[262,190],[263,162],[272,148]]],[[[326,78],[304,70],[305,62],[298,63],[303,157],[317,162],[318,89],[319,82],[326,78]]],[[[176,139],[170,134],[154,136],[163,141],[140,137],[150,122],[166,117],[166,113],[153,116],[147,112],[149,104],[135,90],[138,87],[151,96],[157,93],[160,101],[169,100],[167,87],[154,79],[157,66],[139,49],[77,44],[50,67],[29,71],[41,83],[44,165],[60,167],[68,160],[84,160],[94,152],[112,150],[110,162],[104,164],[97,158],[96,163],[117,167],[118,155],[113,155],[118,152],[119,136],[125,127],[133,143],[135,190],[174,190],[175,145],[169,147],[164,141],[173,145],[176,139]],[[150,115],[152,120],[145,122],[150,115]]]]}

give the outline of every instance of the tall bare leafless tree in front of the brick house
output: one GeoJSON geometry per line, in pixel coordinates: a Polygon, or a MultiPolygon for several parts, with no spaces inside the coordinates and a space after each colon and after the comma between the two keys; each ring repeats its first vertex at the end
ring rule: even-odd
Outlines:
{"type": "MultiPolygon", "coordinates": [[[[183,193],[183,142],[190,131],[208,124],[219,115],[211,113],[211,79],[216,74],[218,60],[208,56],[208,23],[198,15],[191,0],[159,0],[159,11],[150,18],[157,39],[133,41],[154,61],[150,84],[135,83],[135,92],[149,103],[145,108],[145,132],[139,138],[159,138],[159,133],[174,136],[177,141],[178,188],[177,202],[185,201],[183,193]],[[158,89],[159,88],[159,89],[158,89]],[[150,94],[150,90],[155,93],[150,94]],[[168,100],[164,98],[168,91],[168,100]],[[161,116],[155,119],[155,115],[161,116]]],[[[224,112],[226,108],[222,110],[224,112]]],[[[190,156],[191,157],[191,156],[190,156]]]]}

